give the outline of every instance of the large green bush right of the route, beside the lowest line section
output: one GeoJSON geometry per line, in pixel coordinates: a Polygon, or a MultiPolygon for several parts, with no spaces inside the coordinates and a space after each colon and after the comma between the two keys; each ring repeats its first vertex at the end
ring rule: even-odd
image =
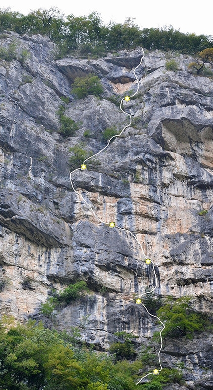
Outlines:
{"type": "Polygon", "coordinates": [[[191,297],[182,297],[174,301],[171,297],[166,299],[164,306],[157,311],[157,316],[165,324],[163,337],[192,338],[196,331],[204,330],[202,316],[192,308],[191,297]]]}

